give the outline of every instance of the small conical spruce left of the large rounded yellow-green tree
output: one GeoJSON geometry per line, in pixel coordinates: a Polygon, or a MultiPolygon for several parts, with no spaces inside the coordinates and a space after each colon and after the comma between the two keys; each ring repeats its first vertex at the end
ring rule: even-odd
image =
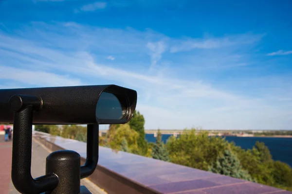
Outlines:
{"type": "Polygon", "coordinates": [[[164,146],[164,142],[161,139],[162,139],[162,134],[160,130],[158,129],[156,142],[152,148],[152,158],[160,159],[163,161],[170,161],[170,159],[168,158],[168,152],[164,146]]]}

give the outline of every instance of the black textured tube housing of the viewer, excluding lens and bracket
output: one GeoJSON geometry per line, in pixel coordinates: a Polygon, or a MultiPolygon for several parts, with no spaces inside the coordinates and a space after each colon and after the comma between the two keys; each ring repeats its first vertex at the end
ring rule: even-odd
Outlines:
{"type": "Polygon", "coordinates": [[[34,124],[114,124],[127,123],[136,108],[137,92],[116,85],[0,89],[0,122],[13,123],[9,99],[13,95],[32,95],[42,99],[42,107],[33,116],[34,124]],[[127,107],[121,120],[98,119],[95,108],[100,94],[117,94],[122,106],[127,107]]]}

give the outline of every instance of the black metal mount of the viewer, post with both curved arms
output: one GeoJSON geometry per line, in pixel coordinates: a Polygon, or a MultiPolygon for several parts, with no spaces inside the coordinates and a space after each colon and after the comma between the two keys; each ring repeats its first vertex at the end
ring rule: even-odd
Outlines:
{"type": "Polygon", "coordinates": [[[31,176],[33,112],[41,109],[42,100],[35,96],[14,95],[14,137],[11,179],[22,194],[91,194],[80,179],[90,176],[98,162],[98,124],[87,125],[87,159],[80,167],[80,155],[72,150],[59,150],[46,159],[46,175],[31,176]],[[81,193],[80,193],[81,192],[81,193]]]}

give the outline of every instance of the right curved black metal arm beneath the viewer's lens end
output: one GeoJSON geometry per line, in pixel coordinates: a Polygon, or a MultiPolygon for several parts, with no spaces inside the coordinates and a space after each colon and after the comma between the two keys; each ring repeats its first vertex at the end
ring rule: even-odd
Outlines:
{"type": "Polygon", "coordinates": [[[81,179],[90,176],[98,162],[98,124],[87,125],[86,162],[81,166],[81,179]]]}

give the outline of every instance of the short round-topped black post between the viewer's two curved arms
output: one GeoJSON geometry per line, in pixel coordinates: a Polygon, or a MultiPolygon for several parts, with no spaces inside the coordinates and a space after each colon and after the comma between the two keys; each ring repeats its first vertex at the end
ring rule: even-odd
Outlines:
{"type": "Polygon", "coordinates": [[[58,186],[46,194],[80,193],[80,155],[71,150],[59,150],[51,153],[46,161],[46,174],[58,176],[58,186]]]}

